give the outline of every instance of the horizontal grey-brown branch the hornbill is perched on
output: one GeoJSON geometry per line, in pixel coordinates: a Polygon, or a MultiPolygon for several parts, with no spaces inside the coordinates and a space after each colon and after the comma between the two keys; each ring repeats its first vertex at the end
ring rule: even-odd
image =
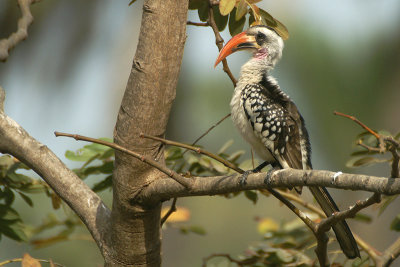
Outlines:
{"type": "Polygon", "coordinates": [[[347,190],[361,190],[379,194],[394,195],[400,193],[398,179],[376,177],[362,174],[342,173],[333,179],[335,172],[324,170],[277,170],[266,179],[265,173],[252,173],[247,184],[240,185],[241,175],[192,177],[191,191],[177,184],[173,179],[161,179],[144,188],[140,197],[151,201],[167,200],[173,197],[218,195],[244,190],[321,186],[347,190]]]}

